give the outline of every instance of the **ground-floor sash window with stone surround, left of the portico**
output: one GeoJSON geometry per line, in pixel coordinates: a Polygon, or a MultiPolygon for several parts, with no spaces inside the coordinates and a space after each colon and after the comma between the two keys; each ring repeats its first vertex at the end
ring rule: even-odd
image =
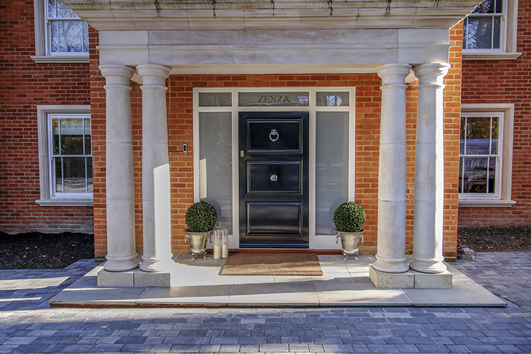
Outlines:
{"type": "Polygon", "coordinates": [[[40,205],[92,204],[91,115],[86,105],[38,106],[40,205]]]}

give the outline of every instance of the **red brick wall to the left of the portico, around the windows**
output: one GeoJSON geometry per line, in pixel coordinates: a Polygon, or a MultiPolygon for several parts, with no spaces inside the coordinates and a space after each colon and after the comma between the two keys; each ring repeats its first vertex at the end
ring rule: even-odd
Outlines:
{"type": "Polygon", "coordinates": [[[36,64],[33,1],[0,4],[0,229],[92,232],[92,207],[41,207],[37,105],[88,105],[88,64],[36,64]]]}

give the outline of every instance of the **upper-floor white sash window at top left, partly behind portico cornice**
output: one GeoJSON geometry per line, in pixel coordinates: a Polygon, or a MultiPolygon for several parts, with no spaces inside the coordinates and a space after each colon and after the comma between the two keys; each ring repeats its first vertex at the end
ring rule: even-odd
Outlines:
{"type": "Polygon", "coordinates": [[[34,0],[35,62],[89,62],[89,25],[64,0],[34,0]]]}

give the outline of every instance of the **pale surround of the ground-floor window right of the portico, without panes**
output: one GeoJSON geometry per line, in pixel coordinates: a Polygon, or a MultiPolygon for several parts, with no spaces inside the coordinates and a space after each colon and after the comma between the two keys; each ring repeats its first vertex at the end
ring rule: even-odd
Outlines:
{"type": "MultiPolygon", "coordinates": [[[[500,161],[496,164],[499,169],[496,173],[498,181],[498,193],[496,195],[473,194],[473,193],[459,193],[459,206],[472,207],[511,207],[515,205],[515,201],[510,200],[511,188],[513,179],[513,130],[514,130],[514,110],[513,103],[464,103],[461,105],[461,112],[463,116],[496,116],[501,117],[499,123],[499,135],[501,137],[501,144],[498,144],[498,149],[501,149],[498,154],[500,161]]],[[[460,162],[459,162],[460,163],[460,162]]]]}

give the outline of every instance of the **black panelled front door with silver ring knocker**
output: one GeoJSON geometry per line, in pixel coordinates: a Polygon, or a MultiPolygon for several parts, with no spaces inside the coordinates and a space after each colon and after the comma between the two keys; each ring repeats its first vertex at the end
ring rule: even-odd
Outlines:
{"type": "Polygon", "coordinates": [[[239,113],[240,247],[308,247],[308,112],[239,113]]]}

